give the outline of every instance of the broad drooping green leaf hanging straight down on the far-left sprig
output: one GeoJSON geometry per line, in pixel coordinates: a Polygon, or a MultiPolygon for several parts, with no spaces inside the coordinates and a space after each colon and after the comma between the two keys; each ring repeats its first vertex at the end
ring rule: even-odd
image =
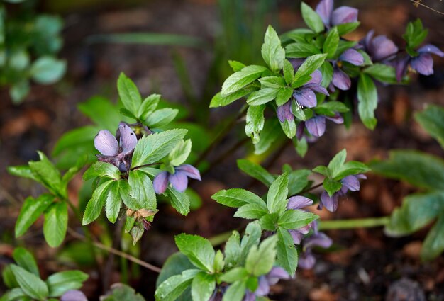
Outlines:
{"type": "Polygon", "coordinates": [[[45,210],[45,222],[43,223],[43,234],[46,242],[52,248],[60,246],[65,239],[68,227],[68,207],[65,201],[52,203],[45,210]]]}

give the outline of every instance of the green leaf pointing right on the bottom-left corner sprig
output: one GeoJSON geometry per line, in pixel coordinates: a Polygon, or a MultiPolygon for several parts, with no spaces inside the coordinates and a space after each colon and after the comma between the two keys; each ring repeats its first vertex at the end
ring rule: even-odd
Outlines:
{"type": "Polygon", "coordinates": [[[52,274],[46,280],[49,288],[49,297],[60,297],[68,290],[77,290],[88,279],[88,274],[82,271],[63,271],[52,274]]]}

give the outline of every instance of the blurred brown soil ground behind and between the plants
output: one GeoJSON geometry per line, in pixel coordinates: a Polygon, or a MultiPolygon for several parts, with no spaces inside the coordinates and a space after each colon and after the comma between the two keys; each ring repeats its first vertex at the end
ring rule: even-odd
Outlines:
{"type": "MultiPolygon", "coordinates": [[[[360,8],[359,19],[362,25],[356,36],[351,38],[360,38],[367,30],[374,28],[377,34],[386,34],[400,42],[404,25],[420,17],[425,27],[429,28],[428,42],[444,49],[444,16],[438,13],[416,8],[407,0],[336,2],[336,6],[344,4],[360,8]]],[[[427,2],[427,5],[444,11],[443,2],[427,2]]],[[[282,32],[301,25],[301,16],[294,1],[278,3],[282,32]]],[[[312,6],[315,3],[309,1],[312,6]]],[[[9,176],[6,166],[25,164],[30,159],[36,159],[37,149],[50,153],[62,133],[87,124],[87,118],[76,108],[77,103],[94,95],[116,100],[116,79],[120,72],[130,76],[143,95],[158,92],[172,102],[185,101],[173,67],[170,47],[88,45],[85,39],[99,33],[155,31],[197,35],[211,41],[220,28],[214,0],[159,0],[133,6],[111,4],[66,13],[64,18],[65,47],[60,56],[68,62],[65,79],[54,86],[33,86],[30,96],[20,106],[13,106],[7,91],[0,91],[0,268],[11,262],[13,246],[23,242],[38,257],[43,275],[62,268],[72,268],[72,263],[57,261],[62,249],[50,249],[43,241],[41,220],[25,239],[13,239],[13,225],[20,203],[27,195],[40,193],[41,188],[9,176]]],[[[202,91],[211,52],[191,48],[181,48],[179,51],[189,67],[194,90],[202,91]]],[[[313,168],[318,164],[326,164],[335,152],[344,147],[348,150],[348,159],[362,161],[387,157],[389,149],[399,148],[421,149],[443,157],[443,149],[412,118],[412,113],[423,108],[426,103],[444,106],[444,61],[434,58],[433,76],[421,77],[410,86],[378,88],[376,130],[371,132],[365,129],[357,120],[350,131],[329,124],[326,135],[310,146],[304,159],[297,156],[292,147],[287,147],[279,157],[274,158],[271,171],[279,173],[283,164],[290,164],[294,168],[313,168]]],[[[223,110],[223,114],[234,113],[235,110],[236,106],[231,106],[223,110]]],[[[220,118],[217,109],[211,110],[211,114],[214,120],[220,118]]],[[[242,127],[239,125],[238,130],[241,131],[242,127]]],[[[237,137],[231,135],[224,143],[234,144],[237,137]]],[[[233,219],[233,211],[221,208],[210,196],[222,188],[242,188],[250,183],[250,179],[240,174],[235,166],[235,159],[243,155],[245,149],[240,149],[206,174],[204,181],[193,183],[201,195],[203,205],[188,217],[181,217],[162,205],[161,217],[153,223],[152,229],[140,243],[143,260],[161,266],[167,256],[176,250],[174,234],[188,232],[211,237],[238,227],[239,221],[233,219]]],[[[72,186],[73,195],[77,194],[81,182],[81,178],[78,178],[72,186]]],[[[259,185],[253,187],[253,190],[263,189],[259,185]]],[[[340,200],[338,212],[321,212],[321,218],[389,215],[400,205],[402,198],[412,191],[414,188],[404,183],[370,175],[362,183],[360,192],[350,193],[340,200]]],[[[72,222],[71,226],[78,225],[72,222]]],[[[99,233],[102,229],[101,225],[94,227],[93,232],[99,233]]],[[[301,301],[444,300],[444,256],[429,263],[422,263],[419,259],[421,241],[426,233],[424,229],[410,237],[394,239],[386,237],[382,228],[329,231],[328,235],[333,238],[337,251],[318,254],[318,263],[312,271],[298,271],[294,280],[282,281],[274,286],[270,298],[301,301]],[[390,295],[389,290],[392,292],[390,295]],[[408,292],[408,297],[403,299],[402,293],[396,294],[394,291],[408,292]],[[421,299],[421,295],[425,295],[426,299],[421,299]]],[[[68,235],[67,243],[73,240],[68,235]]],[[[84,266],[84,269],[91,275],[84,291],[94,300],[99,290],[99,279],[94,268],[84,266]]],[[[133,287],[145,295],[147,300],[152,300],[156,274],[133,267],[131,271],[137,275],[133,276],[133,287]]],[[[120,274],[115,271],[112,277],[118,281],[120,274]]],[[[0,292],[3,288],[0,286],[0,292]]]]}

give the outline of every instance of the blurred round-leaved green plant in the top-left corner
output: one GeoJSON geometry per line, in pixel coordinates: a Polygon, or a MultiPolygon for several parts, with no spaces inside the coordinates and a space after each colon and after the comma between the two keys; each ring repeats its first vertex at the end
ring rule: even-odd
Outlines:
{"type": "Polygon", "coordinates": [[[0,1],[0,86],[9,87],[13,103],[28,95],[30,79],[53,84],[66,71],[66,62],[56,57],[62,19],[36,14],[32,2],[0,1]]]}

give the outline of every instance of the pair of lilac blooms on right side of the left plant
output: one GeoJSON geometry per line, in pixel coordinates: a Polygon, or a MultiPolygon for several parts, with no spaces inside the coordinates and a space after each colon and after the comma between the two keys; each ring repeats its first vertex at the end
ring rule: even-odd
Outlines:
{"type": "Polygon", "coordinates": [[[170,174],[168,171],[162,171],[160,174],[157,174],[154,181],[152,181],[152,185],[157,194],[164,193],[167,190],[168,183],[170,183],[175,190],[184,192],[188,187],[188,178],[195,178],[201,181],[201,174],[196,167],[183,164],[174,167],[174,174],[170,174]]]}

